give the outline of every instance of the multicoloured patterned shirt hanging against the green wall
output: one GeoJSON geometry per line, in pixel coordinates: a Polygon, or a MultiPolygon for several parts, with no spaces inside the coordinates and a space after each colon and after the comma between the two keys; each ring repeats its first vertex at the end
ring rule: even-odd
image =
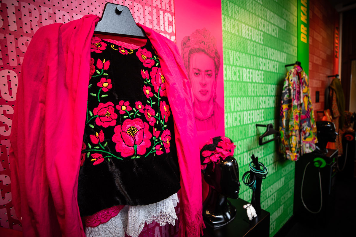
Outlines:
{"type": "Polygon", "coordinates": [[[288,160],[315,150],[316,124],[308,88],[308,76],[300,66],[288,71],[284,80],[279,131],[281,152],[288,160]]]}

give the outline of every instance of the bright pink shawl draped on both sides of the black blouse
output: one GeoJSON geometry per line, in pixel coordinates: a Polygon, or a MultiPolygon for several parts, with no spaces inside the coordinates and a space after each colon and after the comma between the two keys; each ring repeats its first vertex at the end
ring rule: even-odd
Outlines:
{"type": "MultiPolygon", "coordinates": [[[[77,203],[90,39],[99,18],[38,29],[23,59],[11,133],[11,191],[24,236],[84,237],[77,203]]],[[[181,174],[180,236],[200,236],[201,174],[190,85],[177,46],[140,25],[167,79],[181,174]]]]}

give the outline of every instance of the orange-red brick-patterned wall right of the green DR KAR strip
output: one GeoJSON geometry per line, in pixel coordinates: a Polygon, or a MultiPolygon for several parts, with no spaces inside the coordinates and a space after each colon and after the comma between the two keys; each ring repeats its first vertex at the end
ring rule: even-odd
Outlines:
{"type": "MultiPolygon", "coordinates": [[[[310,1],[309,19],[309,86],[314,111],[324,109],[324,92],[333,74],[334,21],[336,10],[328,1],[310,1]],[[319,102],[315,103],[315,91],[319,91],[319,102]]],[[[322,115],[322,114],[321,114],[322,115]]],[[[315,113],[316,120],[321,115],[315,113]]]]}

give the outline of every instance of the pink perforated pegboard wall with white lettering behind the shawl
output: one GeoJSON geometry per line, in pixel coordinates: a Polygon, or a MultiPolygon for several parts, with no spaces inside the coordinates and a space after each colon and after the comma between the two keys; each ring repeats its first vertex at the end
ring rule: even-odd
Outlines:
{"type": "MultiPolygon", "coordinates": [[[[1,0],[0,1],[0,226],[21,230],[11,203],[9,136],[23,55],[38,28],[85,15],[101,16],[106,2],[129,7],[136,22],[175,42],[173,0],[1,0]]],[[[178,226],[145,226],[140,236],[175,236],[178,226]]]]}

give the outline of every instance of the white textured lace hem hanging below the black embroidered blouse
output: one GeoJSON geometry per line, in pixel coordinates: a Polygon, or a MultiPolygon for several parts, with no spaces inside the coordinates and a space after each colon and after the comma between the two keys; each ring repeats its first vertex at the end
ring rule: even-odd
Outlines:
{"type": "Polygon", "coordinates": [[[96,227],[87,226],[87,237],[124,237],[125,233],[132,237],[140,235],[145,222],[156,221],[160,226],[166,223],[175,225],[177,218],[174,207],[177,206],[178,195],[173,194],[167,199],[145,206],[125,206],[114,217],[96,227]]]}

